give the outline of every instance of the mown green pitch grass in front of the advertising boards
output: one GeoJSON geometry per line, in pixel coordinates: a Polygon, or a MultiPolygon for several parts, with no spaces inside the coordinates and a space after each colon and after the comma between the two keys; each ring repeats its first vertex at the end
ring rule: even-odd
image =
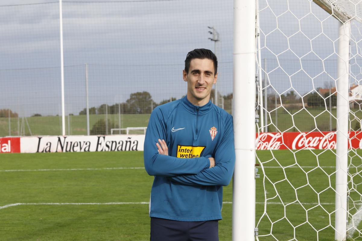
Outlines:
{"type": "MultiPolygon", "coordinates": [[[[335,182],[334,152],[302,150],[294,155],[288,150],[257,151],[257,158],[263,165],[265,177],[269,178],[265,178],[268,218],[263,216],[264,175],[259,167],[261,177],[256,179],[259,240],[291,240],[294,233],[299,241],[317,240],[313,228],[321,230],[319,240],[334,240],[334,230],[329,225],[334,225],[334,205],[329,204],[334,203],[335,198],[332,190],[335,182]],[[302,167],[287,167],[295,163],[302,167]],[[313,169],[318,165],[320,168],[313,169]],[[271,168],[277,166],[284,168],[271,168]],[[321,206],[313,204],[318,203],[318,198],[323,203],[321,206]],[[286,205],[297,199],[302,205],[286,205]],[[293,226],[297,225],[299,227],[294,232],[293,226]],[[270,233],[275,238],[267,235],[270,233]]],[[[361,165],[357,156],[352,162],[355,166],[361,165]]],[[[143,152],[0,155],[0,170],[117,167],[143,167],[143,152]]],[[[357,171],[361,168],[350,169],[352,173],[357,171]]],[[[153,177],[142,168],[0,172],[0,180],[0,206],[4,206],[12,203],[148,202],[153,177]]],[[[354,181],[361,183],[362,179],[355,178],[354,181]]],[[[351,197],[360,200],[355,193],[351,197]]],[[[232,201],[232,183],[224,188],[223,201],[232,201]]],[[[359,205],[361,202],[357,203],[357,209],[359,205]]],[[[223,205],[222,215],[220,240],[231,240],[231,204],[223,205]]],[[[359,229],[362,229],[361,224],[359,229]]],[[[147,204],[18,205],[0,209],[0,240],[135,241],[149,240],[149,233],[147,204]]]]}

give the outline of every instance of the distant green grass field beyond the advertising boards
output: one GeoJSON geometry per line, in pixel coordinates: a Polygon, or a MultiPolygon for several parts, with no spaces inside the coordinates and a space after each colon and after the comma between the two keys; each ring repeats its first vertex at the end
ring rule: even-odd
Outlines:
{"type": "MultiPolygon", "coordinates": [[[[275,132],[275,126],[281,131],[296,132],[298,130],[310,131],[318,128],[321,131],[329,131],[329,117],[330,114],[323,108],[308,108],[308,112],[305,109],[291,109],[286,111],[283,108],[278,108],[275,118],[275,110],[268,115],[268,124],[270,124],[270,118],[273,124],[268,126],[269,132],[275,132]],[[315,117],[315,119],[314,119],[315,117]],[[314,121],[315,120],[315,121],[314,121]],[[293,124],[294,121],[294,124],[293,124]]],[[[332,130],[336,129],[336,109],[332,109],[332,130]]],[[[126,127],[142,127],[148,125],[148,119],[150,114],[122,114],[121,115],[121,128],[126,127]]],[[[90,115],[89,125],[90,129],[94,123],[100,119],[105,119],[105,115],[90,115]]],[[[108,119],[111,123],[118,125],[118,114],[108,115],[108,119]]],[[[350,125],[352,129],[358,130],[360,127],[357,123],[362,119],[362,111],[359,109],[351,109],[350,125]],[[354,113],[354,115],[352,115],[354,113]],[[357,126],[356,126],[357,125],[357,126]]],[[[61,135],[62,133],[62,120],[60,116],[39,116],[39,117],[27,117],[31,134],[33,135],[61,135]]],[[[22,120],[20,119],[20,126],[22,120]]],[[[70,134],[71,135],[85,135],[87,134],[87,120],[85,115],[70,116],[70,134]]],[[[260,122],[259,122],[260,124],[260,122]]],[[[25,135],[30,135],[28,126],[24,120],[25,135]]],[[[10,118],[11,135],[18,134],[18,119],[10,118]]],[[[68,135],[68,117],[66,116],[66,134],[68,135]]],[[[110,133],[109,133],[110,134],[110,133]]],[[[0,118],[0,137],[9,135],[9,120],[8,118],[0,118]]],[[[24,132],[23,132],[24,135],[24,132]]]]}

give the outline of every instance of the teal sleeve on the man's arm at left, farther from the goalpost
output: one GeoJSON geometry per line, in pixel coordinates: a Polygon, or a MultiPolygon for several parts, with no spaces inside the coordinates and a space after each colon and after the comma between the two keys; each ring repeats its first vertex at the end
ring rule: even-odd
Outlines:
{"type": "Polygon", "coordinates": [[[199,158],[176,158],[160,155],[156,143],[158,139],[167,142],[166,134],[167,116],[164,116],[161,108],[156,107],[148,122],[146,137],[144,140],[144,167],[151,176],[172,177],[184,174],[196,174],[210,167],[210,160],[199,158]]]}

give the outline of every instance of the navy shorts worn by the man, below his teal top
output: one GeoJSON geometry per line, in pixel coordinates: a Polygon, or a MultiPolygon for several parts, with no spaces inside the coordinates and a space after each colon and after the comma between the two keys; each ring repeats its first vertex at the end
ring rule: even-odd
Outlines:
{"type": "Polygon", "coordinates": [[[219,222],[175,221],[151,217],[151,241],[219,241],[219,222]]]}

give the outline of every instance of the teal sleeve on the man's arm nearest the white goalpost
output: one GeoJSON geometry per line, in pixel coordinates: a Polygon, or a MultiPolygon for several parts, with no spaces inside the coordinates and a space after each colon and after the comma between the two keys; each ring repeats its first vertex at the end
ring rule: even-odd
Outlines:
{"type": "Polygon", "coordinates": [[[188,186],[227,186],[234,171],[235,148],[232,117],[226,121],[225,133],[216,148],[215,167],[203,169],[194,175],[178,175],[169,177],[169,180],[188,186]]]}

